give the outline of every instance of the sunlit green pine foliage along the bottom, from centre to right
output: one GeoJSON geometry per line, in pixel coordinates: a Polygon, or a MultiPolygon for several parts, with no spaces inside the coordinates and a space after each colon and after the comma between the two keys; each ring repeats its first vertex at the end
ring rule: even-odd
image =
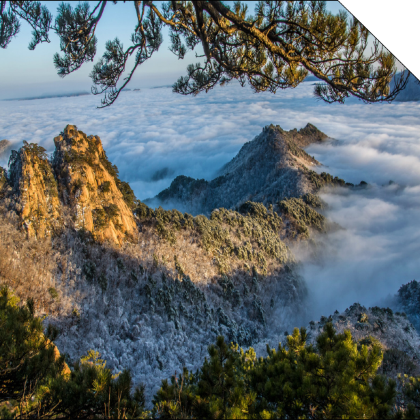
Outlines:
{"type": "MultiPolygon", "coordinates": [[[[184,370],[163,381],[154,399],[165,418],[378,418],[392,414],[395,382],[376,375],[380,347],[357,345],[350,332],[337,334],[331,323],[306,344],[296,328],[287,345],[267,348],[256,358],[249,348],[209,346],[209,358],[195,374],[184,370]]],[[[401,414],[401,413],[400,413],[401,414]]]]}

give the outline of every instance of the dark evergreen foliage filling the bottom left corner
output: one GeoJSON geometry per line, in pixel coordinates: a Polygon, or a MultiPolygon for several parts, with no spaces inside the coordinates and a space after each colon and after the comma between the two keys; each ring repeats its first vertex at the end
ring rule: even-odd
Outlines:
{"type": "Polygon", "coordinates": [[[19,306],[7,287],[0,290],[0,417],[145,417],[144,388],[132,392],[129,371],[112,375],[99,354],[70,370],[47,329],[34,316],[33,301],[19,306]]]}

